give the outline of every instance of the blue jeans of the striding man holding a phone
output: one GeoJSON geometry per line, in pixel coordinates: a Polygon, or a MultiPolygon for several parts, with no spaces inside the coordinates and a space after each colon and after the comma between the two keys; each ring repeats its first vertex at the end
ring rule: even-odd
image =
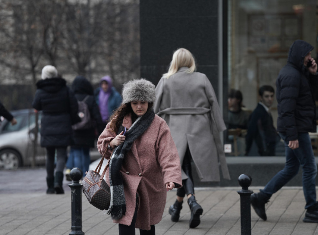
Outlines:
{"type": "Polygon", "coordinates": [[[302,167],[302,187],[306,200],[305,209],[316,203],[316,174],[317,164],[315,161],[311,140],[308,133],[298,133],[299,148],[292,150],[288,147],[286,135],[280,133],[285,142],[286,163],[283,170],[279,171],[265,186],[261,193],[268,199],[273,193],[280,190],[288,181],[297,175],[300,166],[302,167]]]}

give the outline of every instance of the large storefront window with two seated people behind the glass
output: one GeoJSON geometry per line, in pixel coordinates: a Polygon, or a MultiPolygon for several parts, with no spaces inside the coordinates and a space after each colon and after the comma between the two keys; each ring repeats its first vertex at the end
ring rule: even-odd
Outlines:
{"type": "MultiPolygon", "coordinates": [[[[250,146],[246,141],[246,135],[249,135],[246,119],[248,121],[248,116],[257,108],[259,101],[266,103],[264,97],[259,96],[259,88],[267,85],[276,91],[276,78],[280,69],[287,63],[291,44],[296,39],[307,41],[315,47],[312,57],[317,58],[316,9],[316,1],[311,0],[228,1],[229,108],[225,111],[228,124],[225,144],[231,144],[232,151],[226,153],[227,156],[246,155],[246,145],[250,146]],[[240,96],[241,108],[238,104],[240,96]]],[[[269,113],[276,128],[276,96],[273,97],[272,103],[270,101],[267,104],[270,104],[269,113]]],[[[259,130],[257,122],[253,125],[254,130],[259,130]]],[[[261,156],[260,145],[264,147],[262,151],[263,155],[265,151],[265,156],[285,155],[284,144],[279,138],[275,140],[274,153],[266,152],[269,149],[264,141],[266,130],[260,130],[258,133],[258,136],[253,136],[248,156],[261,156]]],[[[318,156],[318,137],[316,134],[311,137],[315,156],[318,156]]]]}

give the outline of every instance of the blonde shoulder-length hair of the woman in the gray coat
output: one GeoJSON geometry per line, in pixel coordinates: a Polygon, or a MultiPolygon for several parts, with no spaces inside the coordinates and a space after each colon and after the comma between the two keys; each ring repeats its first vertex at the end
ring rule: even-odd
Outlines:
{"type": "Polygon", "coordinates": [[[188,67],[185,70],[186,73],[193,73],[197,70],[196,63],[191,52],[185,48],[179,48],[173,53],[172,60],[170,62],[169,70],[163,74],[163,77],[167,79],[174,75],[181,67],[188,67]]]}

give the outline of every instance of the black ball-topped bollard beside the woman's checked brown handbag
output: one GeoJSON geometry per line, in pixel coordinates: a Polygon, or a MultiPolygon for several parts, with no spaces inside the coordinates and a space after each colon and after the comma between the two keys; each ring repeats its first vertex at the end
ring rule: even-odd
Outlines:
{"type": "Polygon", "coordinates": [[[72,198],[72,231],[71,234],[81,234],[85,233],[82,231],[82,184],[79,180],[82,178],[83,172],[79,168],[73,168],[70,172],[70,177],[73,180],[73,184],[70,184],[71,188],[71,198],[72,198]]]}

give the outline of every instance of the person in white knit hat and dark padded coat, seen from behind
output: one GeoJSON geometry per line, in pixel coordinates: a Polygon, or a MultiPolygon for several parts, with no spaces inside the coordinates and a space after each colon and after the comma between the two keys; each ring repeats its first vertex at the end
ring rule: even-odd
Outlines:
{"type": "Polygon", "coordinates": [[[71,145],[72,124],[80,121],[78,104],[73,92],[66,86],[66,80],[58,76],[52,65],[42,69],[42,80],[36,83],[37,91],[32,107],[42,110],[41,146],[46,148],[46,182],[48,194],[61,194],[63,170],[66,163],[66,148],[71,145]],[[56,151],[56,171],[54,158],[56,151]]]}

